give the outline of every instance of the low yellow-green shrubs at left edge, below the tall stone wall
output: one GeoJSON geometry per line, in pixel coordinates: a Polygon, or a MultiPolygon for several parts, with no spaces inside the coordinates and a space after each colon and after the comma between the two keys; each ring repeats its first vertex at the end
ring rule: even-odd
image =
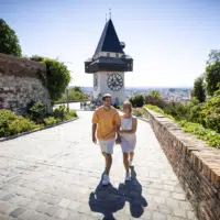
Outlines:
{"type": "Polygon", "coordinates": [[[18,134],[38,127],[33,121],[21,116],[15,116],[10,110],[0,110],[0,138],[18,134]]]}

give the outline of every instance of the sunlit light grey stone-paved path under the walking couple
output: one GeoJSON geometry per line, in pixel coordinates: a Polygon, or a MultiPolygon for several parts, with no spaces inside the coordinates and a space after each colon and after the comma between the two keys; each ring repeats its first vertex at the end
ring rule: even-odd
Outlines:
{"type": "Polygon", "coordinates": [[[103,158],[90,141],[91,112],[79,116],[0,143],[0,220],[96,220],[112,219],[112,213],[117,220],[196,220],[146,122],[139,121],[132,182],[123,182],[122,154],[116,145],[112,185],[102,187],[103,158]]]}

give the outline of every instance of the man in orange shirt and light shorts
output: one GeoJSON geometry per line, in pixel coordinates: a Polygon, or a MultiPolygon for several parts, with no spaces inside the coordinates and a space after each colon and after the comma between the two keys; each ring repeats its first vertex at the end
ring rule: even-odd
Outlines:
{"type": "Polygon", "coordinates": [[[120,116],[111,107],[111,95],[106,94],[102,97],[103,106],[94,112],[92,117],[92,142],[97,144],[97,139],[106,161],[106,170],[102,178],[102,185],[110,182],[109,172],[112,164],[111,154],[113,154],[114,142],[120,142],[120,116]],[[117,134],[117,140],[116,140],[117,134]],[[97,138],[96,138],[97,135],[97,138]]]}

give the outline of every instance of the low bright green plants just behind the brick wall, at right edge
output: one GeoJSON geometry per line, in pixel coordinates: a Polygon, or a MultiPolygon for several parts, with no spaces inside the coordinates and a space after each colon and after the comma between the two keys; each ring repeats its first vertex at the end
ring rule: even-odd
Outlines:
{"type": "Polygon", "coordinates": [[[191,122],[180,122],[180,125],[184,125],[184,131],[188,133],[196,134],[197,139],[201,139],[212,147],[220,148],[220,134],[210,130],[205,129],[201,124],[191,123],[191,122]]]}

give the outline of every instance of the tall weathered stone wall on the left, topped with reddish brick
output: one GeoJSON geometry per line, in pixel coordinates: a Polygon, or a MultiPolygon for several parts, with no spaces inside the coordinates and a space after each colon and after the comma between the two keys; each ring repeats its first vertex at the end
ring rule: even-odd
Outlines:
{"type": "Polygon", "coordinates": [[[47,105],[46,67],[37,62],[0,54],[0,109],[24,114],[31,101],[47,105]]]}

